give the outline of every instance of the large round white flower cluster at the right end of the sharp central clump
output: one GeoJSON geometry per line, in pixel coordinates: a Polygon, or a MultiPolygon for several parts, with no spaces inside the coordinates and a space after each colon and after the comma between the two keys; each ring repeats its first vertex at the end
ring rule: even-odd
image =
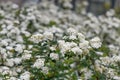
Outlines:
{"type": "Polygon", "coordinates": [[[91,39],[90,44],[93,48],[99,48],[102,45],[99,37],[94,37],[93,39],[91,39]]]}

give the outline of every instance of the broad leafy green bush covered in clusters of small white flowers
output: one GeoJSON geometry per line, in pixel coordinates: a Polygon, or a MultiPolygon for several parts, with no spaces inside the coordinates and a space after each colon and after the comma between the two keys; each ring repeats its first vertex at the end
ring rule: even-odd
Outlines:
{"type": "Polygon", "coordinates": [[[120,80],[120,19],[64,3],[0,5],[0,80],[120,80]]]}

